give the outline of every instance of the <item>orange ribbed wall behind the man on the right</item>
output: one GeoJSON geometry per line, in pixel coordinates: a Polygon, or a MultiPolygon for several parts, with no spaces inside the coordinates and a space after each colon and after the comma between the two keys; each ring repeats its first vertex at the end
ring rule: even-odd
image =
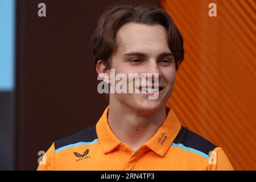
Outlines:
{"type": "Polygon", "coordinates": [[[162,0],[184,38],[185,60],[167,104],[185,127],[224,149],[236,170],[256,169],[253,0],[162,0]],[[217,5],[217,17],[208,5],[217,5]]]}

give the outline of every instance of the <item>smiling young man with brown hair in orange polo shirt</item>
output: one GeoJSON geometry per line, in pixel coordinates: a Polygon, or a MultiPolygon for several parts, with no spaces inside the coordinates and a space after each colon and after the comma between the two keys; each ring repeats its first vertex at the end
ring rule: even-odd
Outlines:
{"type": "MultiPolygon", "coordinates": [[[[116,84],[110,79],[113,70],[127,77],[145,74],[150,82],[130,84],[139,93],[110,93],[96,126],[53,142],[38,170],[233,169],[220,147],[181,126],[166,106],[184,51],[183,38],[165,11],[109,9],[93,43],[96,71],[107,84],[116,84]],[[157,97],[149,99],[152,95],[157,97]]],[[[128,86],[131,80],[126,81],[128,86]]]]}

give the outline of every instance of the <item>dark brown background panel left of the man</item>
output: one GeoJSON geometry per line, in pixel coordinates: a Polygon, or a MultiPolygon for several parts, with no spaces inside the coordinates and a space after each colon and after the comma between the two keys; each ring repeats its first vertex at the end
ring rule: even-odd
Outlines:
{"type": "Polygon", "coordinates": [[[108,105],[97,92],[90,38],[109,5],[159,1],[16,1],[15,168],[36,169],[38,152],[93,125],[108,105]],[[46,4],[46,17],[38,4],[46,4]]]}

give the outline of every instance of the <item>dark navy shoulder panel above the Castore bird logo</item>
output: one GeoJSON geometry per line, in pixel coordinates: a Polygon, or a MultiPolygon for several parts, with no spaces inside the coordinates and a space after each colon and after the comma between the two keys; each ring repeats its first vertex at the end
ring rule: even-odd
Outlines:
{"type": "Polygon", "coordinates": [[[92,142],[97,139],[96,125],[54,142],[55,150],[77,142],[92,142]]]}

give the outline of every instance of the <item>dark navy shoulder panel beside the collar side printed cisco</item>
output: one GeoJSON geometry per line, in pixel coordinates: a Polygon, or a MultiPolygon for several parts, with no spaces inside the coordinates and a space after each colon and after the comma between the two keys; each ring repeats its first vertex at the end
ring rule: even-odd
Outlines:
{"type": "Polygon", "coordinates": [[[206,155],[209,155],[209,152],[213,151],[214,148],[217,147],[213,143],[209,142],[207,139],[204,139],[200,135],[193,133],[192,131],[188,130],[186,127],[183,126],[181,126],[181,129],[177,134],[174,143],[181,143],[185,147],[201,151],[206,155]]]}

